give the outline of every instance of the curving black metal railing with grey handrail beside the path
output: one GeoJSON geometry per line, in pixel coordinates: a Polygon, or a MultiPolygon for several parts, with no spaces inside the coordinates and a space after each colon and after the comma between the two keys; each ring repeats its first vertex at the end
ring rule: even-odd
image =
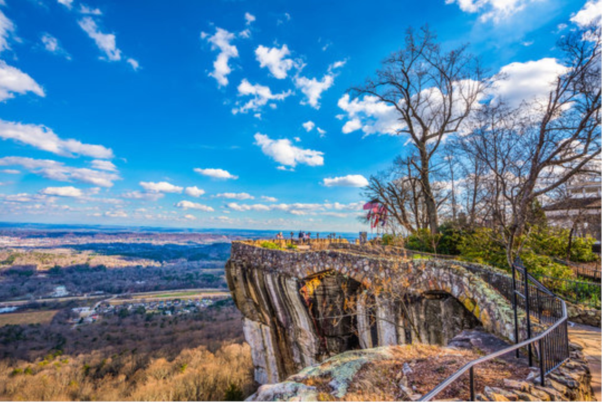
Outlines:
{"type": "Polygon", "coordinates": [[[467,363],[424,395],[421,401],[432,400],[467,371],[470,400],[474,401],[475,366],[512,352],[519,357],[521,348],[527,349],[529,366],[533,366],[534,357],[538,360],[539,381],[542,386],[545,385],[545,376],[569,357],[566,303],[531,276],[523,264],[517,261],[512,265],[512,305],[517,344],[467,363]],[[523,322],[518,319],[519,310],[524,313],[521,314],[521,317],[524,317],[523,322]],[[526,338],[523,341],[520,341],[521,334],[526,338]]]}

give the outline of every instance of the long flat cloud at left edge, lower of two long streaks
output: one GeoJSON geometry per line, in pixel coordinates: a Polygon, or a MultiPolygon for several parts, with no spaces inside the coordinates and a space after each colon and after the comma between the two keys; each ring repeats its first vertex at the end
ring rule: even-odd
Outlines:
{"type": "Polygon", "coordinates": [[[21,166],[35,175],[42,176],[61,182],[78,181],[98,185],[100,187],[112,187],[113,182],[121,179],[119,175],[101,170],[70,167],[63,162],[50,159],[33,159],[23,156],[5,156],[0,158],[0,166],[21,166]]]}

